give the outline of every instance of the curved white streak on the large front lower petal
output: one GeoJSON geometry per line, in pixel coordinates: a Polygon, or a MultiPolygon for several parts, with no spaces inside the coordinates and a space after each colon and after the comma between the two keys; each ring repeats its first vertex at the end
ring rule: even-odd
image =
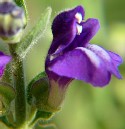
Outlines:
{"type": "Polygon", "coordinates": [[[94,52],[83,47],[77,47],[76,49],[82,50],[90,59],[90,61],[94,64],[95,67],[100,67],[100,59],[94,52]]]}

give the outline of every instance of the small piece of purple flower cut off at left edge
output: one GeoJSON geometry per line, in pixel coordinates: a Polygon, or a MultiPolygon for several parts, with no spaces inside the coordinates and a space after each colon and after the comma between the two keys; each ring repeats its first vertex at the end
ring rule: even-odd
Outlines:
{"type": "Polygon", "coordinates": [[[5,55],[0,51],[0,78],[2,77],[6,65],[11,61],[11,56],[5,55]]]}

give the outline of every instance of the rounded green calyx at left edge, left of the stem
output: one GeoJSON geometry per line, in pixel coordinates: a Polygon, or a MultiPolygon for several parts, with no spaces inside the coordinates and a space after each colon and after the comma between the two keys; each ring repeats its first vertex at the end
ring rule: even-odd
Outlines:
{"type": "Polygon", "coordinates": [[[0,82],[0,116],[8,112],[10,103],[14,98],[14,89],[6,83],[0,82]]]}

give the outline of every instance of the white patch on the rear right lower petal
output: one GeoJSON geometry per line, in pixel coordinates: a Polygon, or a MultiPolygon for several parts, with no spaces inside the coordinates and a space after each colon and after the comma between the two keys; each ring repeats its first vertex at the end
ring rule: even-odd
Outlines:
{"type": "Polygon", "coordinates": [[[107,60],[107,61],[111,61],[111,57],[109,56],[109,54],[100,46],[92,44],[92,45],[88,45],[87,48],[91,51],[93,51],[96,55],[98,55],[99,57],[107,60]]]}

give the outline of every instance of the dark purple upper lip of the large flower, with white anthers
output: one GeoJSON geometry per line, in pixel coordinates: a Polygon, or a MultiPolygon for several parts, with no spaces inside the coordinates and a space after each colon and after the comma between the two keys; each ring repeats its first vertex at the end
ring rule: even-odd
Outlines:
{"type": "Polygon", "coordinates": [[[58,55],[69,46],[85,46],[91,40],[99,30],[99,21],[93,18],[83,21],[84,14],[83,7],[77,6],[55,17],[52,24],[53,42],[48,54],[58,55]]]}

